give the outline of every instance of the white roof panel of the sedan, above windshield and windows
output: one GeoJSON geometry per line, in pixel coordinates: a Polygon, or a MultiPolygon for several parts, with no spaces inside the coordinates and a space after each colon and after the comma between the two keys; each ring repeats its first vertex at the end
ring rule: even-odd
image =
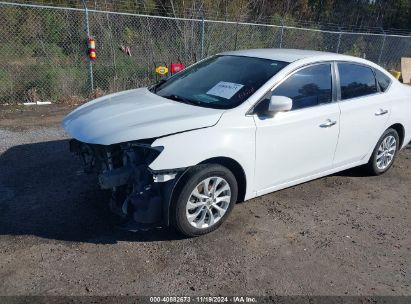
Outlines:
{"type": "Polygon", "coordinates": [[[319,52],[319,51],[309,51],[309,50],[296,50],[296,49],[250,49],[250,50],[239,50],[224,52],[219,55],[232,55],[232,56],[246,56],[263,58],[284,62],[294,62],[301,59],[313,59],[313,60],[342,60],[342,61],[355,61],[368,63],[367,60],[341,55],[336,53],[319,52]]]}

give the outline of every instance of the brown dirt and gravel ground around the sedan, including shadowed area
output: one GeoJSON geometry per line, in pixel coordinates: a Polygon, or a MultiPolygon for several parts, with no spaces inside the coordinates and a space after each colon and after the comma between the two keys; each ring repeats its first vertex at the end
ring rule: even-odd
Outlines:
{"type": "Polygon", "coordinates": [[[0,295],[411,295],[411,148],[392,170],[238,204],[216,232],[128,233],[59,127],[0,109],[0,295]]]}

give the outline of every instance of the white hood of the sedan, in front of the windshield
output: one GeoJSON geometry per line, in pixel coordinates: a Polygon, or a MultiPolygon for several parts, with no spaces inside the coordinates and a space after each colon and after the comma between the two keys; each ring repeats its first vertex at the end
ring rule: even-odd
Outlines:
{"type": "Polygon", "coordinates": [[[68,114],[62,127],[79,141],[111,145],[210,127],[223,112],[169,100],[141,88],[90,101],[68,114]]]}

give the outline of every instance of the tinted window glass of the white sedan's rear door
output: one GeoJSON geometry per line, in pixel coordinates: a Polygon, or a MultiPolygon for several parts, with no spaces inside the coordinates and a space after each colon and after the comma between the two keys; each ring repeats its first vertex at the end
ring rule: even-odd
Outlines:
{"type": "Polygon", "coordinates": [[[339,63],[341,99],[366,96],[376,93],[377,85],[373,71],[365,66],[339,63]]]}

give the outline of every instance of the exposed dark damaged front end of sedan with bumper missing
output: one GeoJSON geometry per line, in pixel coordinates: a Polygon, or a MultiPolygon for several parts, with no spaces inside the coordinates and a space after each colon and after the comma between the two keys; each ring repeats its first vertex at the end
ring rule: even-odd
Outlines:
{"type": "Polygon", "coordinates": [[[123,228],[140,230],[169,224],[171,194],[184,169],[155,172],[149,165],[163,150],[153,141],[139,140],[114,145],[70,141],[87,173],[97,173],[103,190],[110,190],[110,209],[123,228]]]}

